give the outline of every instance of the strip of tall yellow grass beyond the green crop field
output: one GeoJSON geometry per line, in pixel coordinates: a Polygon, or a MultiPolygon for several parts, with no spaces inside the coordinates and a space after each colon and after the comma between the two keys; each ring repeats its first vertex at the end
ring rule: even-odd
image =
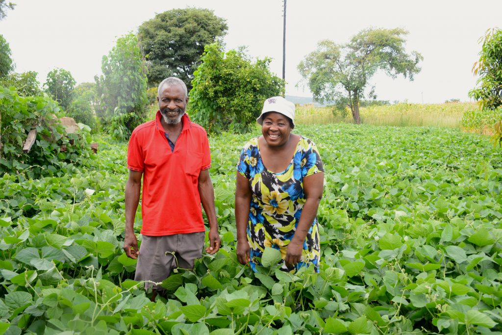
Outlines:
{"type": "MultiPolygon", "coordinates": [[[[448,102],[438,104],[397,103],[384,106],[361,107],[361,123],[373,126],[460,126],[464,111],[477,109],[474,102],[448,102]]],[[[297,106],[295,122],[299,125],[353,123],[350,111],[347,117],[333,115],[331,107],[313,104],[297,106]]]]}

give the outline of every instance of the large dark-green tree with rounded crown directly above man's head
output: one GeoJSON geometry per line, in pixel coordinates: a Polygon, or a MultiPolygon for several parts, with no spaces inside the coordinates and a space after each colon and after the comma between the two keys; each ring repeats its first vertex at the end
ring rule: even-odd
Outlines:
{"type": "Polygon", "coordinates": [[[221,42],[227,29],[226,20],[198,8],[167,11],[144,22],[138,37],[147,59],[149,85],[175,76],[190,90],[204,46],[221,42]]]}

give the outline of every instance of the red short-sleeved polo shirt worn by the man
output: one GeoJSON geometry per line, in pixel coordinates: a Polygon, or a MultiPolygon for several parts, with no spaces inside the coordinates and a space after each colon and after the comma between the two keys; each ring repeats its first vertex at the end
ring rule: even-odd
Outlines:
{"type": "Polygon", "coordinates": [[[141,234],[204,232],[198,178],[211,165],[206,131],[185,114],[171,152],[160,118],[157,111],[155,120],[138,126],[129,141],[128,168],[143,172],[141,234]]]}

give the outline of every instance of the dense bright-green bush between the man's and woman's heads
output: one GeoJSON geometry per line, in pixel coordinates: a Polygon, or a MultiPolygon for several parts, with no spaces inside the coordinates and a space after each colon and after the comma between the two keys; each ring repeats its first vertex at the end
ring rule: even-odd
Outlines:
{"type": "Polygon", "coordinates": [[[256,124],[263,101],[284,94],[284,80],[269,70],[270,59],[253,63],[243,50],[226,54],[206,46],[190,91],[190,116],[209,132],[244,132],[256,124]]]}

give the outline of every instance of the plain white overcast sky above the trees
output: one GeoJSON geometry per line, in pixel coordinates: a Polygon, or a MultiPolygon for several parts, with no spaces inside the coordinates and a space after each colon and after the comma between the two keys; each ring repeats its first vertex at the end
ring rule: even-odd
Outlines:
{"type": "MultiPolygon", "coordinates": [[[[16,72],[34,70],[41,83],[55,67],[69,70],[77,83],[101,74],[101,58],[118,37],[136,33],[156,13],[174,8],[209,8],[227,20],[226,49],[245,45],[254,57],[273,58],[271,70],[282,76],[283,1],[132,1],[132,0],[11,0],[17,6],[0,21],[9,42],[16,72]]],[[[286,94],[311,96],[295,87],[297,66],[317,42],[345,43],[369,27],[409,31],[408,51],[424,56],[415,81],[384,74],[373,77],[379,99],[409,102],[467,101],[476,78],[478,39],[488,28],[502,28],[500,0],[289,0],[286,28],[286,94]]]]}

